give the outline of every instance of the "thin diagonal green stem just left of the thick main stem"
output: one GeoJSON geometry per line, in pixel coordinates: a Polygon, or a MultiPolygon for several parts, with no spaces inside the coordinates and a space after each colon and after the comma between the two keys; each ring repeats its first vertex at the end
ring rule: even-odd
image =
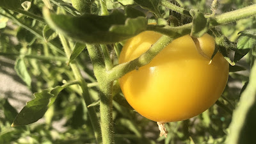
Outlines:
{"type": "MultiPolygon", "coordinates": [[[[68,47],[67,40],[65,39],[65,37],[63,35],[60,35],[60,40],[61,40],[61,44],[63,44],[64,51],[67,54],[67,58],[70,58],[71,50],[68,47]]],[[[72,68],[72,71],[74,73],[74,76],[76,77],[76,80],[80,81],[80,86],[83,91],[82,94],[83,94],[84,102],[85,102],[86,106],[89,106],[90,104],[92,104],[92,100],[90,98],[87,83],[86,83],[86,81],[84,81],[84,79],[81,75],[81,72],[80,72],[79,68],[77,67],[76,63],[74,63],[74,62],[70,63],[70,67],[72,68]]],[[[93,106],[88,108],[88,114],[89,114],[90,120],[92,122],[93,131],[94,131],[94,135],[97,140],[97,143],[101,143],[102,140],[100,138],[100,127],[98,124],[99,120],[96,115],[95,108],[93,106]]]]}

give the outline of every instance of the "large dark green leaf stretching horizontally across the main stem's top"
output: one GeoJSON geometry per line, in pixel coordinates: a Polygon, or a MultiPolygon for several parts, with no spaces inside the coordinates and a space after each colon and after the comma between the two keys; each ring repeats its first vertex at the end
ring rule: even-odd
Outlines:
{"type": "Polygon", "coordinates": [[[43,10],[45,20],[53,29],[60,31],[74,41],[88,44],[111,44],[138,35],[147,28],[147,19],[125,19],[114,10],[106,16],[84,14],[81,17],[56,15],[47,8],[43,10]]]}

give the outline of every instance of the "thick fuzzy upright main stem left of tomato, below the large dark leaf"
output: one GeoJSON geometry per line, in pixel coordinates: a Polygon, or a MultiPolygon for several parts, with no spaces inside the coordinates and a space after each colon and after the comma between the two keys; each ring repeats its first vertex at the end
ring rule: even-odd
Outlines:
{"type": "Polygon", "coordinates": [[[92,60],[93,71],[99,83],[100,91],[100,127],[102,141],[104,144],[114,143],[113,136],[113,103],[112,91],[113,81],[108,81],[104,57],[97,45],[87,45],[87,49],[92,60]]]}

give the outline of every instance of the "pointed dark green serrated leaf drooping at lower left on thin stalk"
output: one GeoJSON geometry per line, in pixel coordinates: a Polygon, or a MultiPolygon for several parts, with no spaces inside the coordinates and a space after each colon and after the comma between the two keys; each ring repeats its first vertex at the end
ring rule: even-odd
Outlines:
{"type": "Polygon", "coordinates": [[[12,127],[32,124],[42,118],[64,88],[64,86],[56,86],[34,93],[35,99],[27,102],[13,121],[12,127]]]}

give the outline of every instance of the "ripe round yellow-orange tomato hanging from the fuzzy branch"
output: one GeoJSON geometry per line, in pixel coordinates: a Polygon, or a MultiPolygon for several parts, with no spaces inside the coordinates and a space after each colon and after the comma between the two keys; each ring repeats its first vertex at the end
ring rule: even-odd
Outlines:
{"type": "MultiPolygon", "coordinates": [[[[138,58],[161,36],[144,31],[127,40],[119,63],[138,58]]],[[[199,115],[218,100],[227,84],[229,65],[220,52],[209,64],[212,36],[205,34],[196,41],[189,35],[177,38],[148,65],[119,79],[132,108],[150,120],[174,122],[199,115]]]]}

